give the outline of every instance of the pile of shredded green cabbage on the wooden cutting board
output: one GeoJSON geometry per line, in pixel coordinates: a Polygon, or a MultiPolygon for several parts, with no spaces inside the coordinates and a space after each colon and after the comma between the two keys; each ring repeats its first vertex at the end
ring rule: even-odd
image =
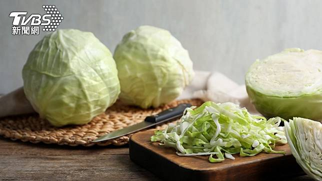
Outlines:
{"type": "Polygon", "coordinates": [[[180,121],[156,130],[151,141],[174,147],[180,156],[209,155],[210,162],[220,162],[224,156],[234,159],[231,154],[236,153],[284,154],[272,149],[277,142],[287,143],[284,127],[279,126],[282,120],[280,117],[266,120],[231,102],[207,101],[199,107],[186,108],[180,121]]]}

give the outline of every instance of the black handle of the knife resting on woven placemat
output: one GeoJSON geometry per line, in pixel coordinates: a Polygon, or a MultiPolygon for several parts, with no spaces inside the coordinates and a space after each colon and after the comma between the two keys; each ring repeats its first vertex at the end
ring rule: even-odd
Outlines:
{"type": "Polygon", "coordinates": [[[181,103],[176,107],[163,110],[158,114],[146,116],[144,121],[159,122],[165,119],[171,120],[171,119],[179,118],[183,114],[184,109],[190,106],[191,104],[189,103],[181,103]]]}

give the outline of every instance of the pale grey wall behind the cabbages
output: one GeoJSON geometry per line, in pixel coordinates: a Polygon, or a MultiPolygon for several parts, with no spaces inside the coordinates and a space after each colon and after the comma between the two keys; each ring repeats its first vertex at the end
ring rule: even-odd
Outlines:
{"type": "Polygon", "coordinates": [[[111,51],[139,25],[168,29],[188,49],[194,68],[243,83],[256,59],[286,47],[322,49],[322,0],[0,0],[0,93],[22,85],[21,69],[44,33],[11,35],[11,11],[43,13],[54,4],[59,28],[92,31],[111,51]]]}

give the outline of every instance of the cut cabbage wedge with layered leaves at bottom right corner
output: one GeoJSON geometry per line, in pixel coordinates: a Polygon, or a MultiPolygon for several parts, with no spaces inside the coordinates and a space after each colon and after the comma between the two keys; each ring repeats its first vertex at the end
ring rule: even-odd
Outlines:
{"type": "Polygon", "coordinates": [[[286,138],[293,156],[306,174],[322,180],[322,124],[294,117],[285,122],[286,138]]]}

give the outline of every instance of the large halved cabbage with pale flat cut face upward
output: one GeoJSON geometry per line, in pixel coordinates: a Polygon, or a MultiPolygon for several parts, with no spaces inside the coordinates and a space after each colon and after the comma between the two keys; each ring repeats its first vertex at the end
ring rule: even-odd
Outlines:
{"type": "Polygon", "coordinates": [[[322,120],[322,51],[285,49],[256,60],[245,80],[251,102],[263,115],[322,120]]]}

